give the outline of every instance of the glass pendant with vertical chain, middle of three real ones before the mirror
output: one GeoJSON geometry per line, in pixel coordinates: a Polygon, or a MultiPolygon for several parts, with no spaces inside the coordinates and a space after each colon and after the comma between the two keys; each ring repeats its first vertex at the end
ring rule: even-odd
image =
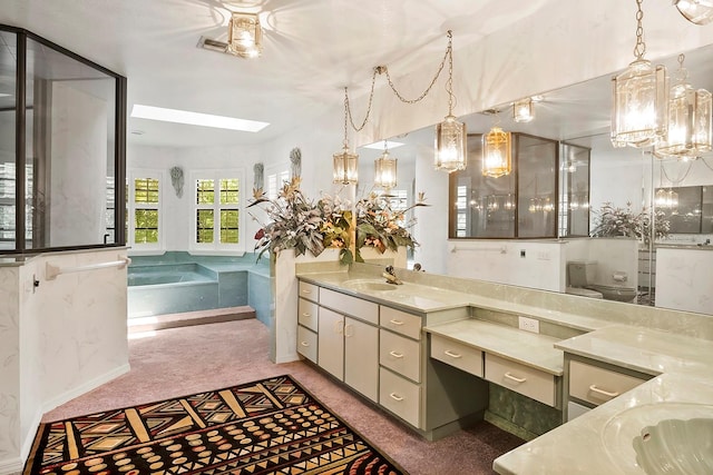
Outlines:
{"type": "Polygon", "coordinates": [[[453,49],[452,33],[448,31],[448,116],[436,126],[436,161],[437,170],[448,172],[466,169],[466,125],[453,116],[453,49]]]}

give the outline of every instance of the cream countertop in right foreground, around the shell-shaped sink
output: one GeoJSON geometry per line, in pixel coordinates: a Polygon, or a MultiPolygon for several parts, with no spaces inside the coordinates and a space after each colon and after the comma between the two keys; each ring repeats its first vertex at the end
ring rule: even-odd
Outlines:
{"type": "Polygon", "coordinates": [[[713,417],[713,342],[614,325],[555,344],[557,348],[660,376],[498,457],[499,474],[643,474],[633,438],[647,425],[713,417]]]}

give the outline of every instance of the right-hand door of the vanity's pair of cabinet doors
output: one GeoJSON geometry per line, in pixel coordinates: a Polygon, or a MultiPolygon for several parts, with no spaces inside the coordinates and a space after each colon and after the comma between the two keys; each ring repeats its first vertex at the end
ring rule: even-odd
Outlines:
{"type": "Polygon", "coordinates": [[[379,329],[350,317],[344,319],[344,383],[379,399],[379,329]]]}

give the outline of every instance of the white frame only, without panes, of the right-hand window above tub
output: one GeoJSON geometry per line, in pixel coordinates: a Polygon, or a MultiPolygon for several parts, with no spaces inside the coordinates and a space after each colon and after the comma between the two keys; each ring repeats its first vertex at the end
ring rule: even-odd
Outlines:
{"type": "Polygon", "coordinates": [[[191,195],[188,195],[188,199],[191,199],[191,236],[188,241],[188,248],[192,254],[203,254],[203,255],[238,255],[242,256],[245,254],[245,201],[247,199],[246,187],[250,187],[245,181],[245,170],[243,168],[233,168],[233,169],[216,169],[216,170],[192,170],[189,172],[189,190],[191,195]],[[221,196],[221,180],[222,179],[231,179],[237,178],[238,180],[238,204],[235,207],[221,205],[219,200],[213,204],[213,207],[208,207],[207,205],[198,205],[196,204],[196,181],[197,180],[215,180],[216,189],[215,196],[221,196]],[[198,209],[209,209],[214,210],[215,224],[213,229],[213,243],[196,243],[196,211],[198,209]],[[233,208],[238,211],[237,219],[237,244],[222,244],[221,243],[221,208],[233,208]]]}

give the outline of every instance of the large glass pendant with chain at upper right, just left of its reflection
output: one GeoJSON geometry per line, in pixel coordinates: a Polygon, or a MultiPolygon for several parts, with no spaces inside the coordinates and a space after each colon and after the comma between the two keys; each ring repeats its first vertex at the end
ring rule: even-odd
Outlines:
{"type": "Polygon", "coordinates": [[[612,144],[615,147],[646,147],[666,133],[666,68],[653,67],[644,59],[642,1],[636,0],[636,60],[612,79],[612,144]]]}

